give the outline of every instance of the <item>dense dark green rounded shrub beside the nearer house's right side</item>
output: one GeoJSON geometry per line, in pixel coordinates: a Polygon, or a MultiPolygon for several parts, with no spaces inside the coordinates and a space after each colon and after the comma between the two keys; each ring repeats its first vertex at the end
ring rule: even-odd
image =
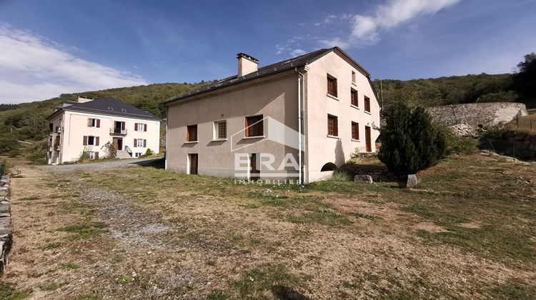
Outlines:
{"type": "Polygon", "coordinates": [[[447,153],[445,135],[424,108],[395,101],[384,116],[378,158],[394,174],[415,174],[437,164],[447,153]]]}

